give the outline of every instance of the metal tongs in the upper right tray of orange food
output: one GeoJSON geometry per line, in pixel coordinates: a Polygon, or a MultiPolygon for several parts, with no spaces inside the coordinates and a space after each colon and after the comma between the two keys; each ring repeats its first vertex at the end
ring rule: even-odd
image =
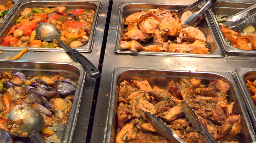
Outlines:
{"type": "MultiPolygon", "coordinates": [[[[253,6],[251,6],[251,7],[249,7],[249,8],[256,8],[256,4],[255,5],[253,5],[253,6]]],[[[250,12],[250,10],[252,10],[252,9],[248,9],[248,8],[246,8],[245,10],[243,10],[244,12],[245,12],[245,14],[243,14],[243,13],[240,13],[240,14],[238,14],[238,15],[234,15],[234,16],[232,16],[230,19],[233,21],[233,19],[238,19],[238,21],[235,21],[233,24],[230,24],[229,26],[228,26],[228,28],[230,28],[230,29],[232,29],[232,30],[238,30],[238,29],[241,29],[241,28],[243,28],[243,27],[245,27],[246,25],[248,25],[249,24],[249,22],[254,18],[254,17],[256,17],[256,10],[254,11],[254,12],[252,12],[251,14],[249,14],[248,16],[247,16],[247,14],[248,14],[248,12],[250,12]],[[247,9],[247,10],[246,10],[247,9]],[[245,18],[247,16],[247,18],[245,18]]],[[[242,11],[241,11],[242,12],[242,11]]],[[[228,17],[229,18],[229,17],[228,17]]],[[[230,20],[230,19],[226,19],[226,21],[228,21],[228,20],[230,20]]]]}

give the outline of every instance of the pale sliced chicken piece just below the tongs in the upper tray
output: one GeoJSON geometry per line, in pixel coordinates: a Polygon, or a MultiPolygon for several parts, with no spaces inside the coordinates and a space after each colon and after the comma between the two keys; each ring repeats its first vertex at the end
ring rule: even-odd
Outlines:
{"type": "Polygon", "coordinates": [[[189,43],[193,43],[195,40],[204,40],[206,41],[206,38],[202,31],[195,27],[188,26],[181,30],[181,33],[179,35],[179,41],[178,43],[181,43],[182,41],[186,40],[189,43]]]}

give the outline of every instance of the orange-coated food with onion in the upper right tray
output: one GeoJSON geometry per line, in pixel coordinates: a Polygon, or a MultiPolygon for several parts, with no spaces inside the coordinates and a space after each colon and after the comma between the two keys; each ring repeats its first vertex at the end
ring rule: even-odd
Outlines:
{"type": "Polygon", "coordinates": [[[242,50],[256,50],[256,32],[252,25],[233,31],[225,25],[227,15],[215,16],[227,43],[242,50]]]}

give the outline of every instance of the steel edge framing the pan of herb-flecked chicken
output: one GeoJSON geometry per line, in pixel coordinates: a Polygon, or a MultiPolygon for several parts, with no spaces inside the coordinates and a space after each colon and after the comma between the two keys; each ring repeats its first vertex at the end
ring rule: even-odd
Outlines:
{"type": "MultiPolygon", "coordinates": [[[[230,72],[214,72],[214,71],[178,71],[178,70],[159,70],[159,69],[139,69],[139,68],[128,68],[128,67],[116,67],[114,70],[113,70],[113,74],[112,74],[112,81],[111,81],[111,95],[110,95],[110,100],[109,100],[109,108],[108,108],[108,115],[107,115],[107,124],[106,124],[106,128],[105,128],[105,137],[104,137],[104,143],[109,143],[110,140],[111,140],[111,132],[113,130],[113,117],[114,116],[114,107],[115,107],[115,102],[116,102],[116,99],[115,99],[115,96],[116,96],[116,90],[117,88],[119,87],[119,85],[117,85],[117,78],[120,74],[124,73],[125,71],[132,71],[132,70],[138,70],[138,71],[166,71],[166,72],[177,72],[177,73],[180,73],[180,72],[183,72],[183,73],[192,73],[192,74],[195,74],[195,73],[200,73],[200,74],[215,74],[215,75],[218,75],[218,76],[221,76],[223,77],[224,79],[228,80],[230,83],[232,83],[233,87],[234,87],[234,90],[235,90],[235,93],[236,93],[236,97],[237,97],[237,102],[241,108],[241,112],[243,113],[244,115],[244,119],[245,119],[245,122],[244,123],[246,126],[247,126],[247,129],[249,131],[249,135],[248,134],[243,134],[243,135],[247,135],[247,137],[250,137],[250,139],[252,141],[256,141],[256,138],[255,138],[255,133],[253,131],[253,128],[252,128],[252,124],[251,124],[251,120],[249,118],[249,115],[246,111],[246,107],[245,107],[245,104],[243,102],[243,99],[241,97],[241,94],[237,88],[237,85],[236,85],[236,82],[235,82],[235,78],[234,76],[232,75],[232,73],[230,72]]],[[[138,74],[140,74],[139,72],[137,72],[138,74]]],[[[141,73],[142,74],[142,73],[141,73]]],[[[157,74],[152,74],[152,75],[157,75],[157,74]]],[[[164,75],[162,75],[164,76],[164,75]]],[[[180,76],[182,77],[182,76],[180,76]]],[[[185,76],[187,77],[187,76],[185,76]]],[[[193,77],[193,76],[191,76],[193,77]]],[[[196,78],[199,78],[200,77],[196,77],[196,78]]],[[[202,78],[201,78],[202,79],[202,78]]],[[[241,125],[242,126],[242,125],[241,125]]],[[[242,129],[241,129],[242,131],[242,129]]],[[[248,138],[246,138],[248,140],[248,138]]]]}

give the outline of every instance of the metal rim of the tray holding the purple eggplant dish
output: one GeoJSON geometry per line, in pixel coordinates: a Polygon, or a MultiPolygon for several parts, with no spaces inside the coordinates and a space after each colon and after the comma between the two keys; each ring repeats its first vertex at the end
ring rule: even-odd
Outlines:
{"type": "MultiPolygon", "coordinates": [[[[74,68],[76,68],[80,74],[78,75],[79,78],[77,80],[77,87],[76,87],[76,92],[75,92],[75,96],[74,96],[74,100],[73,100],[73,103],[72,103],[72,107],[71,107],[71,110],[70,110],[70,115],[69,115],[69,119],[67,121],[67,126],[66,126],[66,129],[62,129],[62,130],[65,130],[65,134],[62,135],[63,137],[63,143],[70,143],[72,140],[73,140],[73,133],[74,133],[74,129],[75,129],[75,124],[76,124],[76,119],[77,119],[77,112],[78,112],[78,109],[79,109],[79,105],[80,105],[80,102],[81,102],[81,97],[82,97],[82,88],[84,86],[84,83],[85,83],[85,75],[86,75],[86,72],[84,71],[83,67],[79,64],[79,63],[65,63],[65,62],[41,62],[41,61],[13,61],[13,60],[0,60],[0,66],[1,68],[0,69],[8,69],[8,70],[24,70],[24,71],[63,71],[63,70],[60,70],[60,69],[50,69],[50,70],[46,70],[45,67],[42,68],[42,69],[38,69],[38,68],[31,68],[31,65],[32,64],[51,64],[51,65],[68,65],[68,66],[72,66],[74,68]],[[6,63],[24,63],[26,65],[28,65],[28,68],[26,69],[26,67],[22,66],[21,64],[21,67],[13,67],[13,68],[10,68],[10,67],[3,67],[2,66],[2,63],[3,62],[6,62],[6,63]]],[[[56,68],[56,67],[54,67],[56,68]]],[[[68,71],[68,70],[65,70],[65,71],[68,71]]],[[[49,142],[51,143],[51,141],[49,142]]]]}

